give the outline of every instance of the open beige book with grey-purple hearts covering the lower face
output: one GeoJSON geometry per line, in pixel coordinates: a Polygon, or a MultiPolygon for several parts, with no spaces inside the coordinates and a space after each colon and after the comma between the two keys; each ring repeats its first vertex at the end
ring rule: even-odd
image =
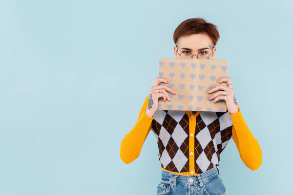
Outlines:
{"type": "MultiPolygon", "coordinates": [[[[220,59],[159,59],[159,77],[169,80],[173,95],[167,92],[171,101],[159,98],[158,110],[189,110],[226,112],[226,101],[209,100],[215,92],[209,89],[217,86],[222,77],[228,76],[228,60],[220,59]]],[[[167,84],[167,83],[160,83],[167,84]]],[[[227,86],[226,82],[220,83],[227,86]]]]}

